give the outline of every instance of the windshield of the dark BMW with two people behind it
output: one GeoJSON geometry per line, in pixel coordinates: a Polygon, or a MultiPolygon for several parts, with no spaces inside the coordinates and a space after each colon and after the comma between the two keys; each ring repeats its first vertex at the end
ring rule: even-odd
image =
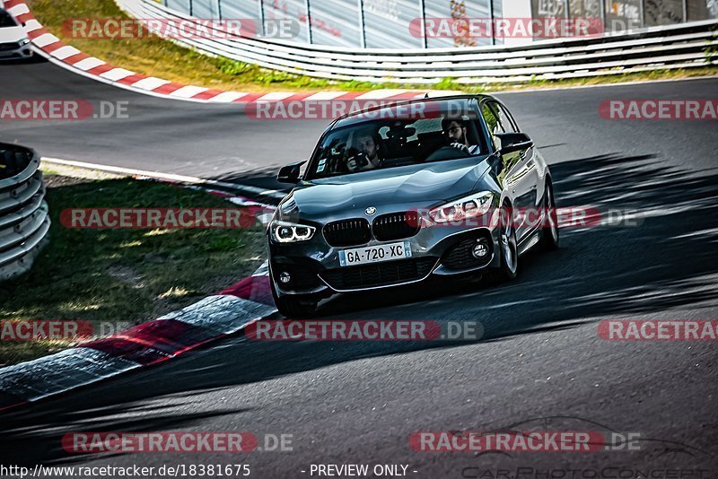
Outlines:
{"type": "Polygon", "coordinates": [[[468,115],[432,117],[377,119],[335,128],[322,138],[306,178],[486,154],[476,119],[468,115]]]}

